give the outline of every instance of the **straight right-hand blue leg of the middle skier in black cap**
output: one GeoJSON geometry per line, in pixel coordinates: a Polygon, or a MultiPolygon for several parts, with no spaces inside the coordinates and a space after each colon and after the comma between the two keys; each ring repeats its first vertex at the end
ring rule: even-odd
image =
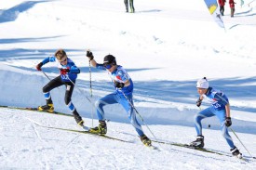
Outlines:
{"type": "Polygon", "coordinates": [[[130,101],[130,103],[133,105],[133,100],[132,100],[132,95],[128,95],[127,98],[125,98],[124,96],[120,96],[118,95],[118,102],[124,107],[124,109],[127,111],[128,113],[128,119],[130,121],[130,124],[133,125],[133,127],[135,128],[135,130],[137,131],[138,135],[141,137],[144,135],[142,128],[141,128],[141,124],[138,122],[137,118],[136,118],[136,112],[133,110],[133,108],[130,106],[128,100],[130,101]]]}

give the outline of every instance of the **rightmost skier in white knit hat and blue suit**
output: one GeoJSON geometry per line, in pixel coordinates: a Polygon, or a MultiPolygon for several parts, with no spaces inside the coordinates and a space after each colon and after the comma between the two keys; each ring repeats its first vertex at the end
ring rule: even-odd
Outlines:
{"type": "Polygon", "coordinates": [[[191,142],[191,146],[203,148],[204,147],[204,136],[202,135],[202,124],[201,121],[204,118],[217,116],[222,126],[222,136],[226,139],[231,152],[234,156],[240,157],[242,154],[234,145],[232,137],[228,133],[228,127],[231,126],[230,117],[230,105],[228,98],[223,94],[222,91],[209,87],[209,82],[206,77],[198,80],[196,83],[197,92],[200,95],[196,101],[196,106],[200,107],[202,100],[208,98],[211,102],[211,106],[203,111],[198,112],[195,115],[195,130],[197,133],[196,140],[191,142]]]}

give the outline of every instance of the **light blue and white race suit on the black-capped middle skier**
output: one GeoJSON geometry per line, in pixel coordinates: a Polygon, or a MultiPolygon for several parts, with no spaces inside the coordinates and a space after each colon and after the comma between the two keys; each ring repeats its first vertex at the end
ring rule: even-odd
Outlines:
{"type": "MultiPolygon", "coordinates": [[[[102,64],[97,64],[96,65],[97,69],[101,70],[106,70],[102,64]]],[[[105,116],[104,116],[104,110],[103,106],[107,104],[115,104],[119,103],[121,104],[124,109],[128,113],[128,119],[130,121],[130,124],[133,125],[139,136],[141,137],[144,133],[141,128],[141,124],[137,121],[136,114],[129,104],[129,102],[133,105],[133,99],[132,99],[132,92],[133,92],[133,83],[131,78],[128,75],[128,72],[126,72],[122,66],[117,65],[117,68],[114,72],[108,72],[109,75],[111,76],[112,82],[117,81],[120,83],[125,83],[129,81],[130,85],[124,86],[122,89],[118,89],[115,87],[115,92],[111,93],[98,101],[96,101],[95,106],[97,110],[97,115],[100,121],[105,121],[105,116]],[[125,96],[124,96],[125,94],[125,96]],[[127,99],[127,98],[128,99],[127,99]],[[129,102],[128,102],[129,100],[129,102]]]]}

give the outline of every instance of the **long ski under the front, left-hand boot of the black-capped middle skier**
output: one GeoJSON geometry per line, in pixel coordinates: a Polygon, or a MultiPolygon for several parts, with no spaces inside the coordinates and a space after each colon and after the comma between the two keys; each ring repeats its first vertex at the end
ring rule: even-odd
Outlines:
{"type": "Polygon", "coordinates": [[[62,131],[67,131],[67,132],[74,132],[74,133],[80,133],[80,134],[88,134],[88,135],[91,135],[91,136],[104,137],[104,138],[108,138],[108,139],[112,139],[112,140],[117,140],[117,141],[121,141],[121,142],[132,143],[132,142],[130,142],[128,140],[124,140],[124,139],[120,139],[120,138],[116,138],[116,137],[109,137],[109,136],[105,136],[105,135],[99,135],[99,134],[90,133],[88,131],[89,127],[87,127],[87,126],[83,126],[83,128],[85,130],[74,130],[74,129],[68,129],[68,128],[47,126],[47,125],[39,124],[39,123],[35,122],[34,120],[32,120],[30,118],[27,118],[27,119],[29,121],[33,122],[34,124],[38,125],[38,126],[45,127],[45,128],[48,128],[48,129],[56,129],[56,130],[62,130],[62,131]]]}

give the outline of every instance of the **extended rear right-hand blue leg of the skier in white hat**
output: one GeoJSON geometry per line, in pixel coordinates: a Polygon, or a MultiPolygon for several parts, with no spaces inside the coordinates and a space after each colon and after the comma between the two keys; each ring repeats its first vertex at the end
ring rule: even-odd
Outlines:
{"type": "Polygon", "coordinates": [[[229,133],[228,133],[228,128],[227,126],[225,125],[225,111],[222,110],[222,111],[216,111],[215,113],[217,115],[217,117],[219,118],[220,120],[220,123],[221,123],[221,127],[222,127],[222,137],[224,137],[227,141],[227,144],[229,145],[230,149],[233,149],[235,148],[235,145],[234,145],[234,142],[233,142],[233,139],[232,137],[230,137],[229,133]]]}

